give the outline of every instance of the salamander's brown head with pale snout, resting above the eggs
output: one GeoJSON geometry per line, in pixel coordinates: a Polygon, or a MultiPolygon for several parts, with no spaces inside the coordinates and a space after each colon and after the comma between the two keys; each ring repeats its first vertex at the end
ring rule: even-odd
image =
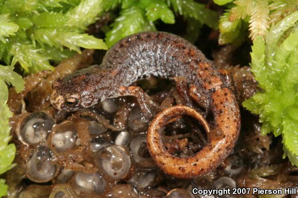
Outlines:
{"type": "Polygon", "coordinates": [[[110,94],[109,74],[86,68],[52,84],[50,103],[59,110],[74,111],[95,105],[110,94]]]}

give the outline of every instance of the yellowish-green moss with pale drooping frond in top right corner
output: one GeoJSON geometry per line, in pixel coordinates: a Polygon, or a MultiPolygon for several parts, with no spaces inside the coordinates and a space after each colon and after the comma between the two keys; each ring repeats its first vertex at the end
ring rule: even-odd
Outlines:
{"type": "Polygon", "coordinates": [[[246,39],[246,32],[254,40],[265,37],[270,26],[296,10],[295,0],[217,0],[214,3],[225,5],[226,11],[219,21],[219,44],[239,45],[246,39]]]}

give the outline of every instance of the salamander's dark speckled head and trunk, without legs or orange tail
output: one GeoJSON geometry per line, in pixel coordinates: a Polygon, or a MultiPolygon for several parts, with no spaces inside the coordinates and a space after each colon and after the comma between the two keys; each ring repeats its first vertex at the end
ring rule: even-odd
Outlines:
{"type": "Polygon", "coordinates": [[[115,44],[100,66],[82,69],[54,83],[51,103],[69,111],[86,108],[118,96],[120,86],[150,75],[183,76],[206,93],[222,85],[219,73],[190,42],[171,33],[144,32],[115,44]],[[64,104],[67,97],[78,98],[79,104],[68,107],[64,104]]]}

